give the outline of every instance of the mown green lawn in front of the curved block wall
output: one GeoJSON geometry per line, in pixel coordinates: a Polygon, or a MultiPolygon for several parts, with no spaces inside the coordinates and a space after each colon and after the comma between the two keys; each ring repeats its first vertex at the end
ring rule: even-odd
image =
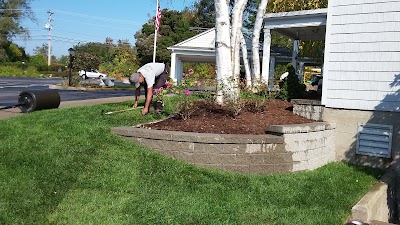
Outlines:
{"type": "Polygon", "coordinates": [[[111,134],[160,118],[101,115],[131,104],[0,120],[0,224],[340,225],[382,174],[344,163],[269,176],[196,168],[111,134]]]}

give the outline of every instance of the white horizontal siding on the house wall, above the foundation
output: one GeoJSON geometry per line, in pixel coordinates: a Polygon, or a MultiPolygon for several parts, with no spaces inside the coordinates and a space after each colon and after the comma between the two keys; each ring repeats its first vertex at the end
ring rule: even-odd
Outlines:
{"type": "Polygon", "coordinates": [[[400,111],[400,0],[329,1],[323,104],[400,111]]]}

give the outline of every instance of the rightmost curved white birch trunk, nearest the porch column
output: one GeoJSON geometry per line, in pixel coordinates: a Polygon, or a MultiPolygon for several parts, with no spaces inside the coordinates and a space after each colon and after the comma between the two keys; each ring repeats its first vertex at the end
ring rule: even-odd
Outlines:
{"type": "MultiPolygon", "coordinates": [[[[254,84],[258,85],[258,82],[261,81],[261,72],[260,72],[260,33],[262,28],[262,23],[264,20],[265,10],[267,8],[268,0],[261,0],[260,5],[258,6],[256,21],[254,23],[253,30],[253,40],[252,40],[252,52],[253,52],[253,75],[254,75],[254,84]]],[[[266,53],[264,53],[266,54],[266,53]]]]}

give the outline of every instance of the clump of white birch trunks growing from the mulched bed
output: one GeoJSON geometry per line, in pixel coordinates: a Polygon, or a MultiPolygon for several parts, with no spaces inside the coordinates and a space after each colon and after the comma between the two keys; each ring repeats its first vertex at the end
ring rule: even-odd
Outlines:
{"type": "MultiPolygon", "coordinates": [[[[242,38],[243,11],[248,0],[236,0],[232,7],[232,20],[229,18],[229,0],[215,0],[215,52],[217,64],[217,103],[226,100],[236,100],[239,95],[239,74],[240,74],[240,43],[242,43],[242,53],[245,54],[247,48],[243,48],[242,38]]],[[[253,81],[261,80],[259,41],[264,15],[268,0],[261,0],[258,6],[256,20],[254,23],[252,37],[252,56],[253,56],[253,81]]],[[[247,53],[247,52],[246,52],[247,53]]],[[[248,72],[248,65],[245,67],[248,72]]],[[[247,78],[249,76],[246,76],[247,78]]],[[[248,80],[247,83],[250,83],[248,80]]]]}

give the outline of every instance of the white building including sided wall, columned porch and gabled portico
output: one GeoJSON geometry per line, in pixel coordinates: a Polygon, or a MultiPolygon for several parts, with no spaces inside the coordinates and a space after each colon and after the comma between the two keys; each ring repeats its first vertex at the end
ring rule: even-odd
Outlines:
{"type": "MultiPolygon", "coordinates": [[[[336,159],[373,166],[398,161],[400,0],[333,0],[327,9],[267,14],[264,23],[264,80],[277,61],[271,32],[325,40],[321,104],[323,120],[337,125],[336,159]]],[[[214,39],[208,30],[168,48],[173,79],[182,76],[182,62],[215,62],[214,39]]]]}

